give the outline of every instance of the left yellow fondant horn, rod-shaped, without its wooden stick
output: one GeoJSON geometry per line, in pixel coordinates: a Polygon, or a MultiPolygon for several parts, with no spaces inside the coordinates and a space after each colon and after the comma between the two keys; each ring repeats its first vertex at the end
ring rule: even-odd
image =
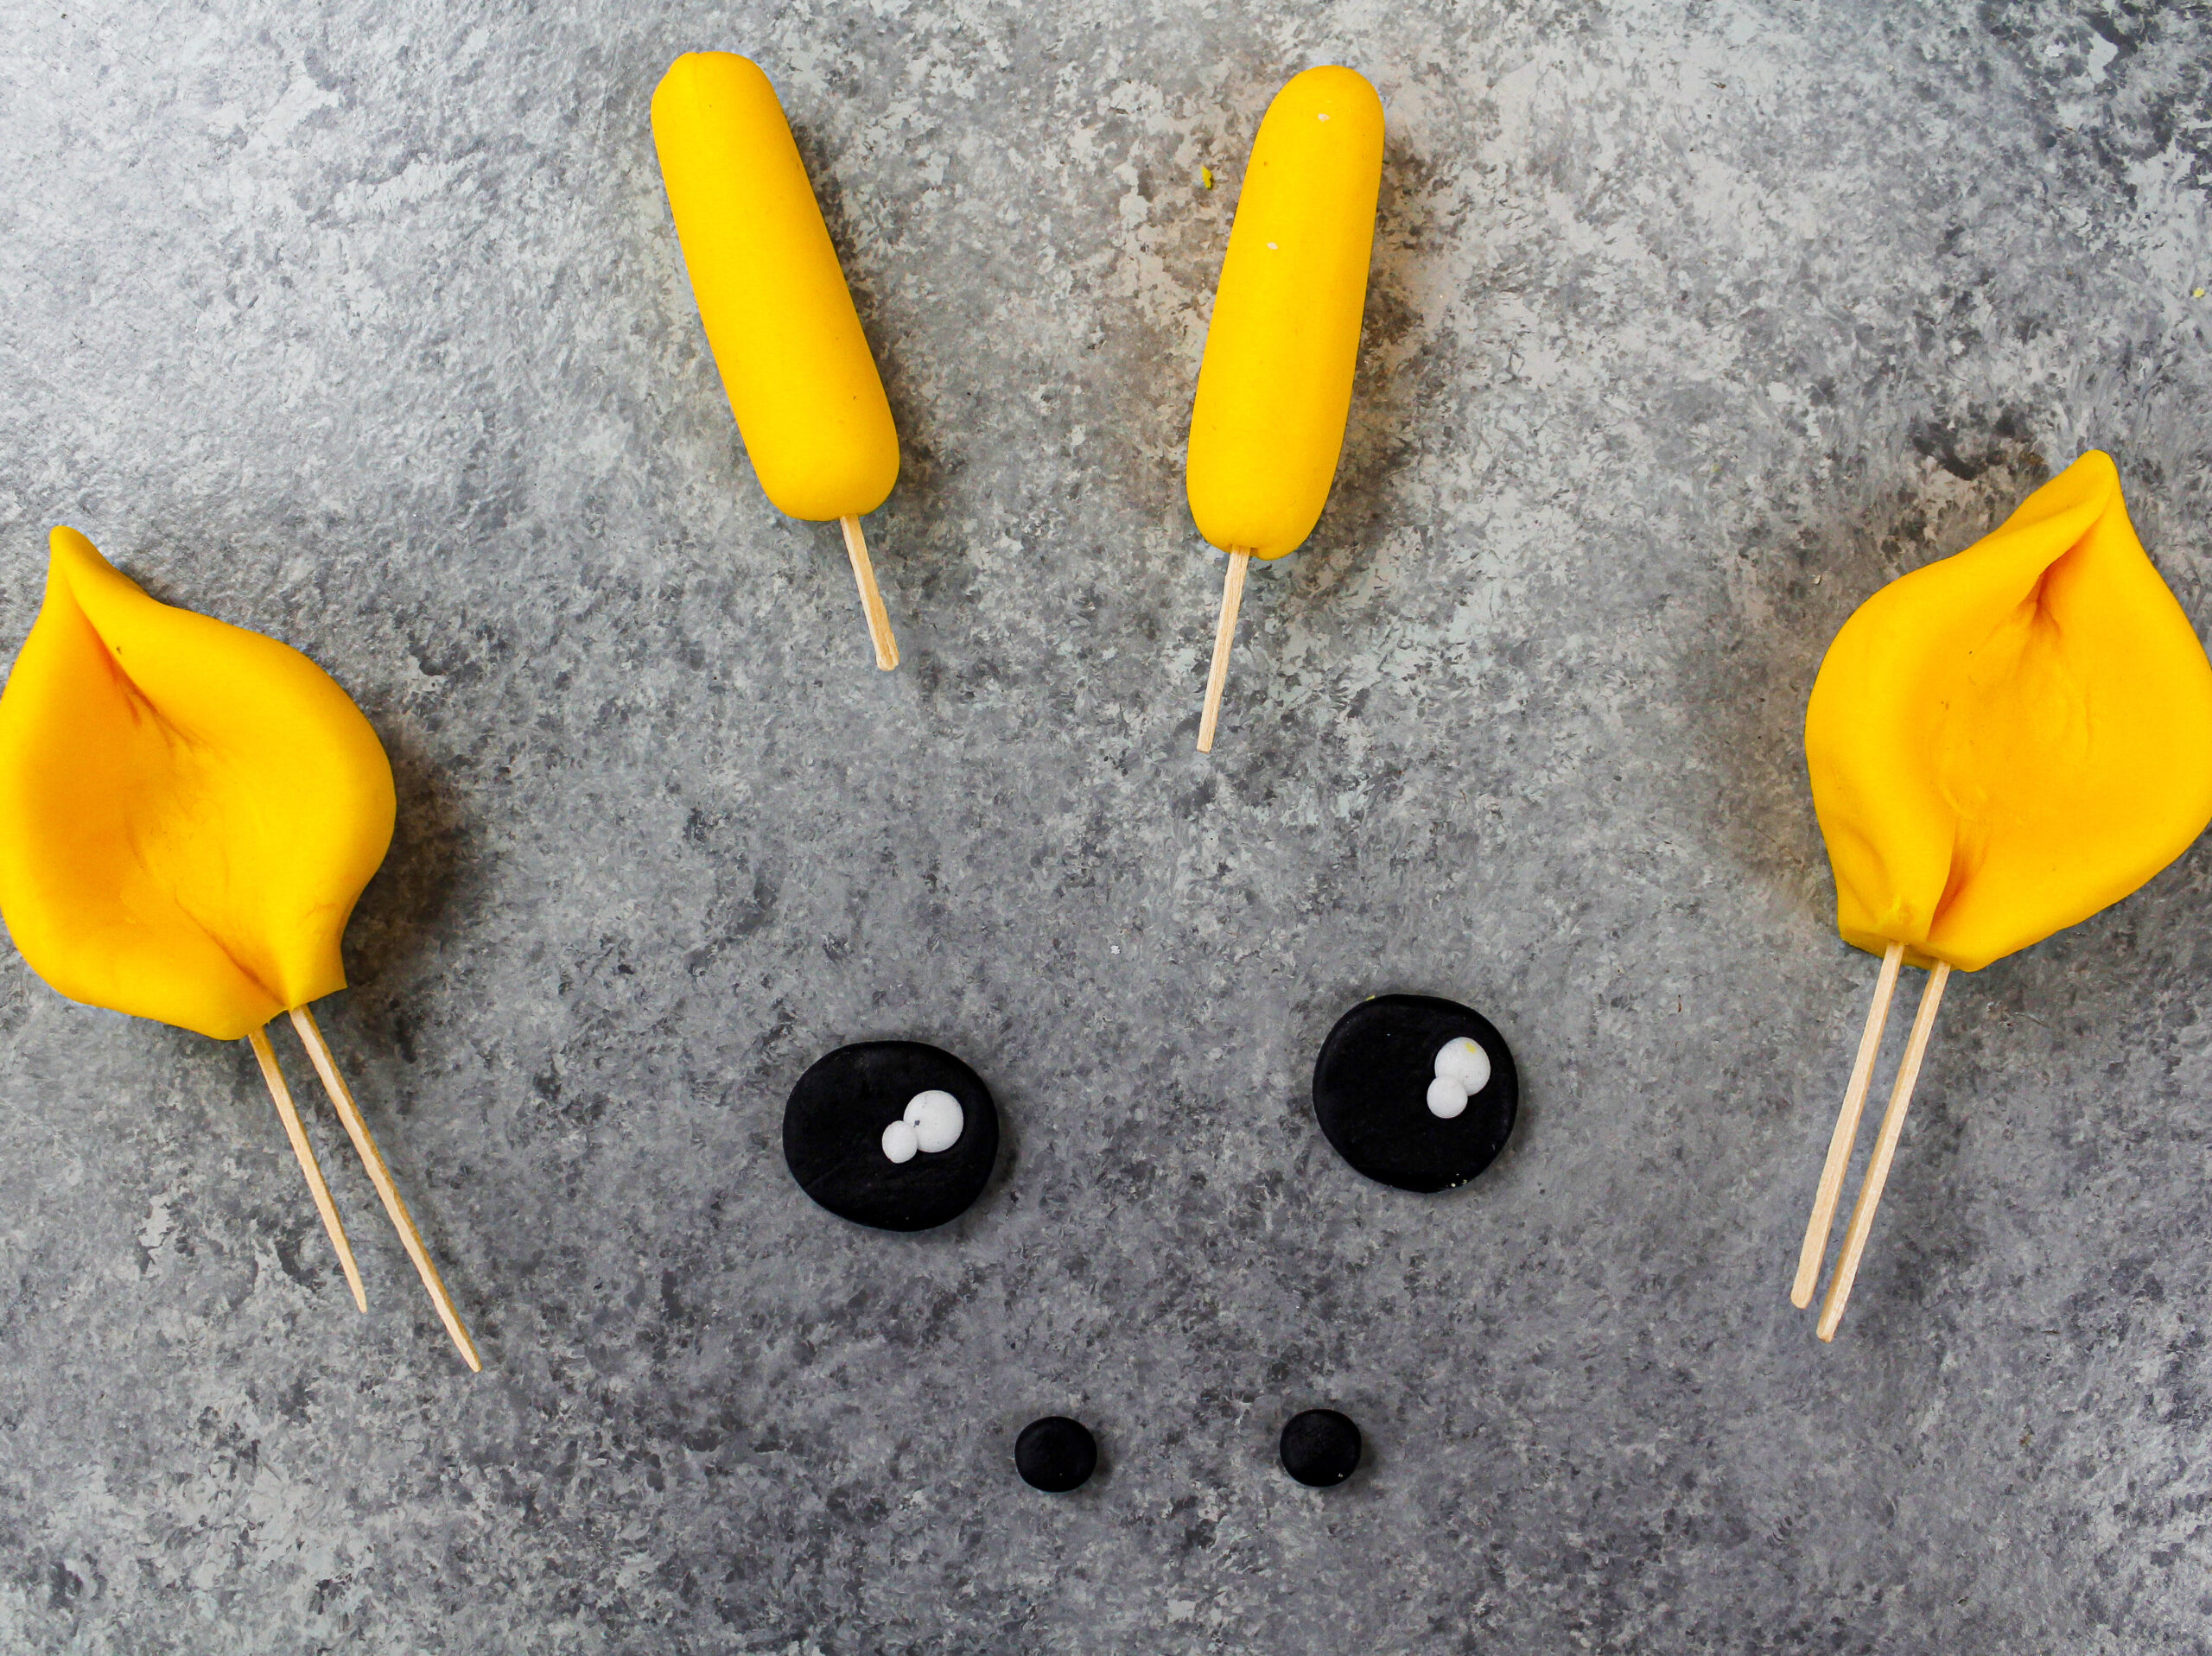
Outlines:
{"type": "Polygon", "coordinates": [[[688,51],[653,93],[653,144],[761,489],[792,517],[876,511],[898,429],[776,88],[737,53],[688,51]]]}

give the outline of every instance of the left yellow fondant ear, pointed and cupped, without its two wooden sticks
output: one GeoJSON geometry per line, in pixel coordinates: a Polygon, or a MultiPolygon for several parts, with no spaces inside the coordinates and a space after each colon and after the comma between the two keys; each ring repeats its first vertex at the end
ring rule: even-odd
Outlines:
{"type": "Polygon", "coordinates": [[[0,694],[0,915],[71,999],[237,1039],[345,988],[392,765],[290,646],[146,597],[73,528],[0,694]]]}

